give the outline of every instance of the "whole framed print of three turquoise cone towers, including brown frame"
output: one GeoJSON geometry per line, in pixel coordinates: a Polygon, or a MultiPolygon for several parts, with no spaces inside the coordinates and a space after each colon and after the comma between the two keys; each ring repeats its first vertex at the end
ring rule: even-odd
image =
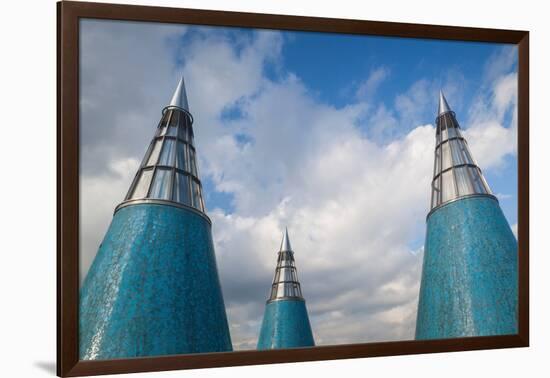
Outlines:
{"type": "Polygon", "coordinates": [[[58,375],[528,346],[528,38],[58,3],[58,375]]]}

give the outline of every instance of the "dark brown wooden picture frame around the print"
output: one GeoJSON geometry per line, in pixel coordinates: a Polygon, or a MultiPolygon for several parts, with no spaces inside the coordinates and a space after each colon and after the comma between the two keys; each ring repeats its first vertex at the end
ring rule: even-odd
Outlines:
{"type": "Polygon", "coordinates": [[[527,31],[63,1],[57,3],[57,38],[57,374],[59,376],[150,372],[529,345],[529,33],[527,31]],[[516,44],[519,54],[518,334],[318,346],[294,350],[237,351],[101,361],[79,360],[78,57],[80,18],[516,44]]]}

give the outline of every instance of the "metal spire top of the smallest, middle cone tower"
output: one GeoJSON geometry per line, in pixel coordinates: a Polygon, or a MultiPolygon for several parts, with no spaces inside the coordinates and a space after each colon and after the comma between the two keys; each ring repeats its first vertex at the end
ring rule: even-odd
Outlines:
{"type": "Polygon", "coordinates": [[[302,299],[302,289],[298,281],[296,272],[296,263],[294,261],[294,252],[290,246],[288,230],[285,229],[281,248],[277,257],[277,267],[275,268],[275,277],[271,285],[270,301],[279,299],[302,299]]]}

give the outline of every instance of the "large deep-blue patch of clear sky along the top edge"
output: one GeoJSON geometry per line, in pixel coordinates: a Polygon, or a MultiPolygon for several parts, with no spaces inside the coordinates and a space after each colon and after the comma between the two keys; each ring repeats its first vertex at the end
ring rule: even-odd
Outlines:
{"type": "MultiPolygon", "coordinates": [[[[346,89],[380,66],[391,72],[391,79],[376,93],[377,101],[383,103],[391,103],[397,93],[419,78],[442,80],[450,69],[460,70],[469,80],[479,81],[482,72],[479,63],[475,62],[485,61],[496,47],[326,33],[295,32],[290,36],[283,51],[285,66],[296,72],[308,87],[319,92],[323,101],[336,106],[349,103],[346,89]]],[[[433,103],[436,104],[435,98],[433,103]]]]}

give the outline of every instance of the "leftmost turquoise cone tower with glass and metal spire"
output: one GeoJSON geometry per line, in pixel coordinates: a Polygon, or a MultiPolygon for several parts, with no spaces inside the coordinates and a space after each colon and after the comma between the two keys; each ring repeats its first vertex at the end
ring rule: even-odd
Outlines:
{"type": "Polygon", "coordinates": [[[231,351],[183,77],[80,291],[80,358],[231,351]]]}

